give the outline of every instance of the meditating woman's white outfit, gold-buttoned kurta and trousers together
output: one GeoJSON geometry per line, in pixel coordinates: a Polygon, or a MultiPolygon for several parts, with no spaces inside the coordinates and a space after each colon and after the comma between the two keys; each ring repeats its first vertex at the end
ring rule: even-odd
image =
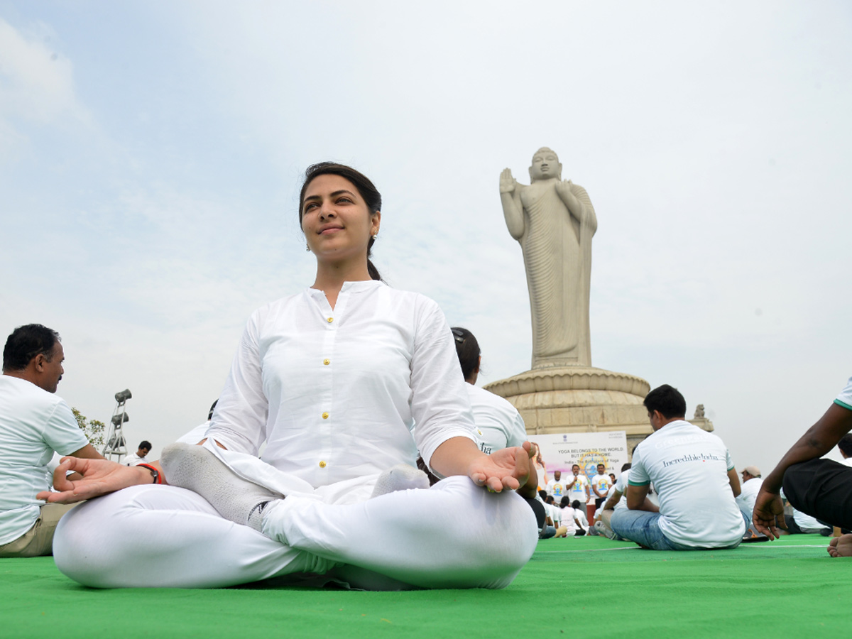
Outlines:
{"type": "Polygon", "coordinates": [[[366,588],[503,587],[537,540],[515,492],[451,477],[369,499],[377,476],[413,465],[417,449],[428,463],[452,437],[475,440],[465,385],[449,325],[424,296],[370,281],[344,284],[333,310],[310,289],[273,302],[246,326],[205,445],[286,495],[264,517],[268,536],[222,519],[194,492],[134,486],[66,515],[56,564],[97,587],[294,573],[366,588]],[[144,569],[117,573],[120,556],[146,557],[144,569]]]}

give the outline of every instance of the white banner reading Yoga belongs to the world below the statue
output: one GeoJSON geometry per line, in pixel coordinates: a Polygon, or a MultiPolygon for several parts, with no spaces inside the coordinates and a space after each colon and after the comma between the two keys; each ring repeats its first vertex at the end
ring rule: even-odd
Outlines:
{"type": "MultiPolygon", "coordinates": [[[[553,479],[555,470],[563,476],[571,475],[571,467],[579,463],[580,473],[591,480],[597,475],[597,464],[604,464],[607,475],[621,475],[621,466],[628,461],[627,435],[624,430],[606,433],[567,433],[564,435],[530,435],[530,441],[538,444],[547,478],[538,478],[544,486],[553,479]]],[[[541,471],[539,471],[540,474],[541,471]]]]}

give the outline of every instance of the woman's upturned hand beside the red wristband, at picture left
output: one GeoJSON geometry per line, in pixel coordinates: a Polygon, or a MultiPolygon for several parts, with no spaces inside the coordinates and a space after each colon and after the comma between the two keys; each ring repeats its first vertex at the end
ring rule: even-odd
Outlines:
{"type": "Polygon", "coordinates": [[[43,491],[36,495],[49,504],[74,504],[84,499],[100,497],[128,486],[150,484],[151,471],[139,466],[122,466],[107,459],[62,458],[54,471],[54,487],[59,492],[43,491]],[[83,479],[69,480],[69,470],[83,475],[83,479]]]}

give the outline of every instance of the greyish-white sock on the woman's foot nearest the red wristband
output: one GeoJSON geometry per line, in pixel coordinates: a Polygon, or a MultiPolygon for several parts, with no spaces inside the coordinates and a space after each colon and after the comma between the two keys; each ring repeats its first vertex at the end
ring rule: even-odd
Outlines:
{"type": "Polygon", "coordinates": [[[268,502],[284,498],[236,475],[204,446],[171,444],[163,449],[160,463],[171,486],[199,493],[225,519],[258,532],[268,502]]]}

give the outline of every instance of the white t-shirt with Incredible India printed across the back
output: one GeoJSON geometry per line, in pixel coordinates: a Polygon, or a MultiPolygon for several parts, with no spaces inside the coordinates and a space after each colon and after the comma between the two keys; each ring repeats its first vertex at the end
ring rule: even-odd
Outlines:
{"type": "Polygon", "coordinates": [[[734,468],[722,440],[681,419],[667,423],[633,452],[631,486],[653,482],[659,529],[666,538],[696,548],[734,544],[746,522],[728,483],[734,468]]]}

